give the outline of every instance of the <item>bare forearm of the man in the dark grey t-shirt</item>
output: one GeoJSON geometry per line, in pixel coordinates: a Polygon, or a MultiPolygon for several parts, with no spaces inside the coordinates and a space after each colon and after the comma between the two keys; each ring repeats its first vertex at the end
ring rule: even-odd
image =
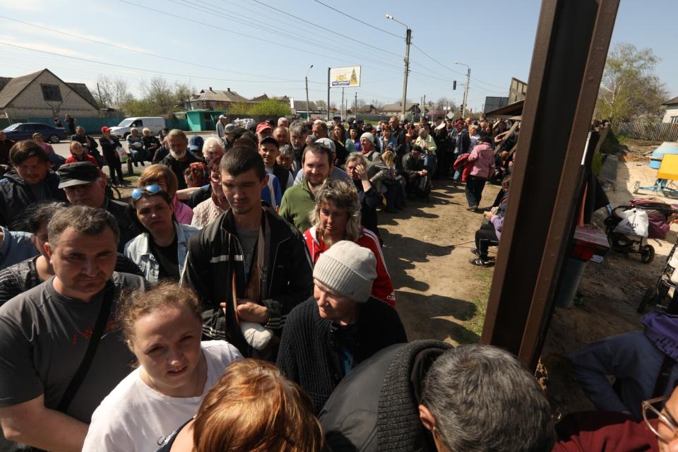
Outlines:
{"type": "Polygon", "coordinates": [[[82,451],[88,425],[44,406],[44,396],[0,408],[6,439],[54,452],[82,451]]]}

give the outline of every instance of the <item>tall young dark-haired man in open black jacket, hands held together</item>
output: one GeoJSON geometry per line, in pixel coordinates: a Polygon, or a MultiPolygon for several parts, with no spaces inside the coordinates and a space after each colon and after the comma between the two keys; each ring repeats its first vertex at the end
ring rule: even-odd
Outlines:
{"type": "Polygon", "coordinates": [[[201,297],[204,335],[271,358],[287,314],[311,295],[311,261],[302,234],[262,206],[266,168],[254,149],[228,151],[220,177],[231,208],[191,238],[181,284],[201,297]]]}

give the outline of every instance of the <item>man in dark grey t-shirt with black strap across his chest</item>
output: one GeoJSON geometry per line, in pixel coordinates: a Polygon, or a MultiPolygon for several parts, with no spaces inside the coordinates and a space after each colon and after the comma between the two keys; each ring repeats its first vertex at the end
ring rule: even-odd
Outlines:
{"type": "Polygon", "coordinates": [[[0,307],[0,424],[12,441],[79,451],[92,412],[129,374],[133,359],[112,314],[120,292],[145,283],[114,273],[119,230],[106,210],[62,210],[50,220],[48,236],[54,277],[0,307]],[[62,400],[106,305],[86,376],[71,400],[62,400]]]}

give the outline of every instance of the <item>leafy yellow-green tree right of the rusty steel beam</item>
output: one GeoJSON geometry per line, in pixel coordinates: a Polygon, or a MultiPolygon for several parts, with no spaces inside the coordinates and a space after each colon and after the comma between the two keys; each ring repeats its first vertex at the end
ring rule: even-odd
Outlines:
{"type": "Polygon", "coordinates": [[[659,61],[652,49],[638,50],[627,42],[617,44],[607,55],[595,117],[612,122],[658,119],[668,96],[654,73],[659,61]]]}

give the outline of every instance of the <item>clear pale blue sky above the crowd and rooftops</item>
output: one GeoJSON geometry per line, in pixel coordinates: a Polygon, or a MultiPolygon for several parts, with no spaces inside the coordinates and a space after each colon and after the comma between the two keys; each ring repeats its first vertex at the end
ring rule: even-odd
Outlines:
{"type": "MultiPolygon", "coordinates": [[[[540,1],[485,1],[484,11],[458,0],[321,1],[371,26],[316,0],[0,0],[0,76],[47,67],[91,89],[104,74],[125,78],[138,94],[157,74],[198,90],[304,100],[313,64],[309,97],[318,100],[327,97],[329,66],[361,65],[362,86],[346,97],[390,103],[402,95],[405,53],[405,27],[387,20],[390,13],[412,29],[409,99],[460,104],[463,87],[452,90],[452,81],[463,83],[465,66],[455,61],[471,67],[474,110],[485,96],[507,95],[512,76],[528,81],[540,1]]],[[[676,18],[678,1],[623,0],[612,36],[612,45],[653,49],[670,97],[678,95],[676,18]]],[[[332,102],[340,98],[333,89],[332,102]]]]}

